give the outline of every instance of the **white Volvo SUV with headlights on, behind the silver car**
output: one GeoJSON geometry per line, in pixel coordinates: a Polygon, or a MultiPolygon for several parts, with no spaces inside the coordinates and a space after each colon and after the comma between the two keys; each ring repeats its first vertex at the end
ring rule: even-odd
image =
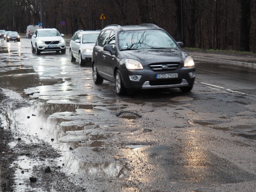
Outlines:
{"type": "Polygon", "coordinates": [[[31,39],[32,53],[39,55],[45,51],[61,51],[65,54],[66,43],[63,36],[55,28],[37,29],[31,39]]]}

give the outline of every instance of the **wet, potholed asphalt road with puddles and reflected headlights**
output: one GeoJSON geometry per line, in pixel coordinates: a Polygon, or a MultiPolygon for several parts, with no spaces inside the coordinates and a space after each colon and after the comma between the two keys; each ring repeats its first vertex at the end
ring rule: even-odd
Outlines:
{"type": "Polygon", "coordinates": [[[193,52],[192,92],[117,96],[68,51],[37,56],[23,38],[0,54],[15,191],[255,191],[254,58],[193,52]]]}

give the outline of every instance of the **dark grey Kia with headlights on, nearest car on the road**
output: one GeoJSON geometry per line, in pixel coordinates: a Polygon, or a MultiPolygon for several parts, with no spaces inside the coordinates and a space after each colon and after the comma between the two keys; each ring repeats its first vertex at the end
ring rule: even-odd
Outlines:
{"type": "Polygon", "coordinates": [[[107,26],[93,48],[93,81],[114,82],[118,95],[133,89],[189,92],[196,77],[195,64],[183,46],[154,24],[107,26]]]}

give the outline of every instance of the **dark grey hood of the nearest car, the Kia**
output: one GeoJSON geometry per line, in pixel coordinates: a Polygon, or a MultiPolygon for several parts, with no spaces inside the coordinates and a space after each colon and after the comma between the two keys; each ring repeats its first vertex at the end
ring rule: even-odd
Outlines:
{"type": "MultiPolygon", "coordinates": [[[[143,66],[159,62],[183,62],[185,52],[175,48],[152,50],[127,50],[122,51],[124,58],[141,62],[143,66]]],[[[122,56],[121,56],[122,57],[122,56]]]]}

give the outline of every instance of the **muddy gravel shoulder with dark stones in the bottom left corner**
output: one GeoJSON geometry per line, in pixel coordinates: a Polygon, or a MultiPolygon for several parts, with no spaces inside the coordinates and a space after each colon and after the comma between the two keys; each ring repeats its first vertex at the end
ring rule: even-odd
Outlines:
{"type": "MultiPolygon", "coordinates": [[[[14,111],[30,105],[21,96],[18,97],[18,94],[12,98],[6,92],[11,91],[0,88],[0,112],[3,116],[8,110],[14,111]]],[[[8,118],[5,120],[8,122],[8,118]]],[[[62,166],[58,165],[57,159],[60,156],[60,152],[48,142],[22,135],[12,125],[6,127],[5,123],[0,124],[0,191],[84,191],[81,186],[71,182],[62,166]],[[35,166],[32,169],[22,169],[17,163],[21,159],[27,159],[28,164],[35,166]],[[26,178],[25,181],[17,180],[21,174],[26,178]],[[17,181],[20,183],[15,183],[17,181]]]]}

